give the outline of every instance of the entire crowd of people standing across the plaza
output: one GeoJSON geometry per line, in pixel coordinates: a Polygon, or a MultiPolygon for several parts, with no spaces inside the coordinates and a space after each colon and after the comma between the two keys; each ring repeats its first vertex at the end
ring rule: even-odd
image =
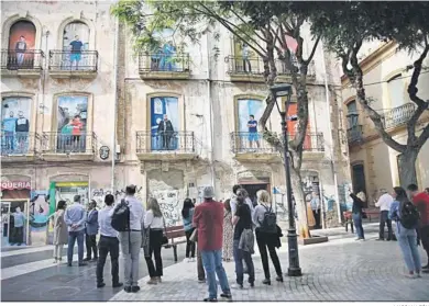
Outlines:
{"type": "MultiPolygon", "coordinates": [[[[114,205],[113,195],[105,197],[105,207],[97,211],[97,203],[90,202],[88,209],[76,195],[74,204],[66,207],[59,201],[54,216],[54,260],[62,260],[63,246],[68,243],[67,264],[72,267],[75,243],[78,245],[78,265],[86,261],[97,261],[97,287],[106,286],[103,268],[110,253],[112,286],[124,286],[128,293],[136,293],[139,286],[139,259],[143,248],[147,264],[148,285],[162,283],[163,260],[161,250],[168,242],[163,213],[156,199],[150,197],[146,206],[138,200],[135,185],[125,189],[125,197],[114,205]],[[97,245],[97,235],[100,239],[97,245]],[[84,259],[84,240],[87,256],[84,259]],[[124,259],[123,279],[119,281],[119,253],[124,259]],[[154,260],[153,260],[154,259],[154,260]]],[[[364,193],[351,193],[353,199],[352,217],[356,227],[358,240],[364,240],[362,218],[366,197],[364,193]]],[[[255,242],[258,248],[264,280],[271,285],[268,254],[276,273],[276,282],[283,282],[282,265],[276,248],[280,247],[282,229],[277,225],[270,194],[265,190],[256,193],[257,205],[253,205],[248,192],[234,185],[231,197],[223,203],[215,200],[212,186],[202,190],[204,201],[184,201],[182,217],[186,237],[186,261],[195,262],[197,256],[198,281],[207,283],[206,302],[218,299],[218,283],[221,297],[231,299],[231,288],[255,285],[255,268],[252,259],[255,242]],[[235,282],[229,284],[222,262],[233,260],[235,282]],[[244,275],[248,281],[244,281],[244,275]],[[217,280],[218,279],[218,280],[217,280]]],[[[397,240],[408,269],[408,277],[419,277],[429,272],[429,192],[418,192],[415,184],[405,191],[394,188],[392,195],[382,192],[375,203],[381,209],[380,238],[384,240],[387,225],[387,240],[397,240]],[[393,224],[395,223],[395,233],[393,224]],[[421,242],[428,253],[428,264],[421,267],[418,245],[421,242]]]]}

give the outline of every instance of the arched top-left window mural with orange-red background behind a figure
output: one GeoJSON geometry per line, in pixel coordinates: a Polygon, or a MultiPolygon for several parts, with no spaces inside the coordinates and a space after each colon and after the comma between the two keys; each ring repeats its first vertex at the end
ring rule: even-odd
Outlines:
{"type": "Polygon", "coordinates": [[[25,20],[15,22],[9,32],[8,69],[31,69],[34,66],[36,29],[25,20]]]}

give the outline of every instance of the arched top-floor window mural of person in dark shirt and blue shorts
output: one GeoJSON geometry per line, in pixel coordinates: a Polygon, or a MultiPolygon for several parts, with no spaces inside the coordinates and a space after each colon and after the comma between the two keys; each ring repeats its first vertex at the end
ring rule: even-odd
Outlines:
{"type": "Polygon", "coordinates": [[[66,70],[85,70],[89,65],[89,27],[82,22],[72,22],[64,27],[63,33],[63,63],[66,70]]]}

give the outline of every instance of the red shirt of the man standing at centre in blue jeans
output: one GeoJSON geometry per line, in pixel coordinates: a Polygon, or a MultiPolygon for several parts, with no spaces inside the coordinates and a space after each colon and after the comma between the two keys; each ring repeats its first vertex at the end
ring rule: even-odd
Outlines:
{"type": "Polygon", "coordinates": [[[198,249],[200,251],[217,251],[222,249],[223,238],[223,204],[216,201],[205,201],[195,207],[194,226],[198,230],[198,249]]]}

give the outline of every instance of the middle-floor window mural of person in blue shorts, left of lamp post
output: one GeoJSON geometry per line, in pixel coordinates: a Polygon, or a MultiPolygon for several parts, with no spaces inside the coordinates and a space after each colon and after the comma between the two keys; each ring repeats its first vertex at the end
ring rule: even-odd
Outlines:
{"type": "Polygon", "coordinates": [[[238,124],[240,149],[261,147],[261,135],[257,133],[258,121],[264,113],[264,104],[256,99],[238,100],[238,124]]]}

